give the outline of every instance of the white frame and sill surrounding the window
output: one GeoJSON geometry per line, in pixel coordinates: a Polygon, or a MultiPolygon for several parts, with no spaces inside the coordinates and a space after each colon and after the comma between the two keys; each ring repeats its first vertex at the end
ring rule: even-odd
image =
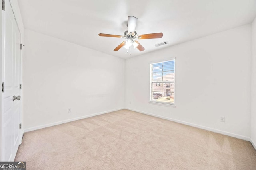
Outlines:
{"type": "MultiPolygon", "coordinates": [[[[150,62],[150,95],[149,95],[149,104],[154,104],[154,105],[159,105],[159,106],[167,106],[167,107],[176,107],[176,57],[172,57],[172,58],[169,58],[169,59],[166,59],[166,60],[161,60],[161,61],[152,61],[150,62]],[[156,102],[156,101],[152,101],[151,100],[151,95],[152,95],[152,70],[151,70],[151,64],[157,64],[157,63],[164,63],[164,62],[168,62],[168,61],[175,61],[174,63],[174,103],[165,103],[165,102],[156,102]]],[[[161,82],[160,82],[161,83],[161,82]]]]}

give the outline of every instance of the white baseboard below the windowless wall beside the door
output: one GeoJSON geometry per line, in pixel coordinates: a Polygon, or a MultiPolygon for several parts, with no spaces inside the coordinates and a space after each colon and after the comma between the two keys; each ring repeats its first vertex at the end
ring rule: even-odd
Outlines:
{"type": "Polygon", "coordinates": [[[68,122],[71,122],[71,121],[76,121],[76,120],[80,120],[80,119],[84,119],[84,118],[88,118],[88,117],[102,115],[102,114],[105,114],[105,113],[110,113],[110,112],[118,111],[118,110],[122,110],[122,109],[124,109],[124,108],[108,110],[108,111],[104,111],[104,112],[100,112],[100,113],[94,113],[94,114],[91,114],[91,115],[85,115],[85,116],[82,116],[82,117],[76,117],[76,118],[68,119],[68,120],[64,120],[64,121],[58,121],[58,122],[54,122],[54,123],[49,123],[49,124],[46,124],[46,125],[30,127],[28,129],[24,129],[24,133],[25,132],[34,131],[34,130],[38,130],[38,129],[42,129],[42,128],[45,128],[45,127],[50,127],[50,126],[54,126],[54,125],[60,125],[60,124],[63,124],[63,123],[68,123],[68,122]]]}

